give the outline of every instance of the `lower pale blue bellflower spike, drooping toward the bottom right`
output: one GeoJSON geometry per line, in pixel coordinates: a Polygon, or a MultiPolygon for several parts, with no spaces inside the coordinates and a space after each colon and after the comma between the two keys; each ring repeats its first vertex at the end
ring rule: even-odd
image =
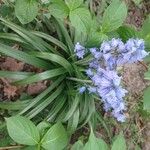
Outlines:
{"type": "Polygon", "coordinates": [[[123,98],[127,91],[120,85],[121,77],[119,77],[115,71],[99,68],[91,80],[95,87],[95,89],[93,89],[95,90],[94,93],[97,93],[102,98],[105,111],[112,110],[115,112],[112,113],[114,117],[117,118],[118,121],[123,122],[125,116],[122,116],[122,120],[118,117],[120,117],[119,114],[123,115],[123,111],[125,110],[123,98]]]}

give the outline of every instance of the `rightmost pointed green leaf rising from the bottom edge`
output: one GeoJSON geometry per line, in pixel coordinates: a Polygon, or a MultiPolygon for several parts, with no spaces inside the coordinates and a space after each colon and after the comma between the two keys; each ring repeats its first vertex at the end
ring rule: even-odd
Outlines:
{"type": "Polygon", "coordinates": [[[111,150],[127,150],[123,133],[120,133],[112,144],[111,150]]]}

